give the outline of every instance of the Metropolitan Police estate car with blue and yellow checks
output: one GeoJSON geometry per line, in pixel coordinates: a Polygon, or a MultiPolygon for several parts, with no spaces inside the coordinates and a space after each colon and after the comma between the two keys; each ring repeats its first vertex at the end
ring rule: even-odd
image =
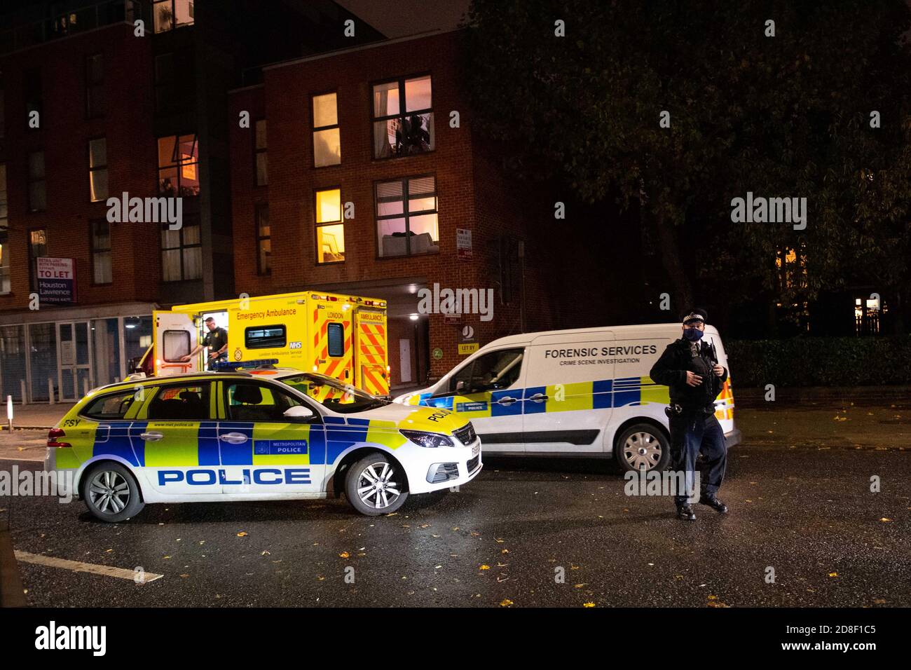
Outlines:
{"type": "Polygon", "coordinates": [[[46,470],[73,474],[73,493],[102,521],[129,519],[147,502],[342,493],[377,515],[481,468],[480,439],[453,412],[276,368],[97,388],[51,429],[45,459],[46,470]]]}

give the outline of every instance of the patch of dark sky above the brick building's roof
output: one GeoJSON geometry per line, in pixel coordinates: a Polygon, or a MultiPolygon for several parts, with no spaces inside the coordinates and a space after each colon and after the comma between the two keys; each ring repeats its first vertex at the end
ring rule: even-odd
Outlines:
{"type": "Polygon", "coordinates": [[[336,0],[388,37],[449,30],[468,11],[470,0],[336,0]]]}

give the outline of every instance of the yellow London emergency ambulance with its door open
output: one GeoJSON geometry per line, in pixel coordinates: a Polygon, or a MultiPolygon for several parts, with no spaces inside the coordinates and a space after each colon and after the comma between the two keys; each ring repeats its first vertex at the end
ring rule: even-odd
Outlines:
{"type": "Polygon", "coordinates": [[[228,331],[229,361],[276,359],[277,366],[331,376],[374,396],[389,393],[385,301],[317,291],[155,311],[152,346],[139,364],[145,376],[204,370],[205,351],[189,361],[183,357],[202,341],[210,316],[228,331]]]}

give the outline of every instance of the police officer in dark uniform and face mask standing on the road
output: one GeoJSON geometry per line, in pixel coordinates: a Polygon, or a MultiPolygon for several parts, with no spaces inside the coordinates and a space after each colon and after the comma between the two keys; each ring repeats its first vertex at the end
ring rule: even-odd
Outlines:
{"type": "MultiPolygon", "coordinates": [[[[716,497],[724,479],[727,447],[724,431],[715,418],[715,398],[722,392],[728,371],[718,364],[714,346],[702,339],[708,314],[692,309],[683,316],[683,336],[671,342],[652,366],[651,378],[670,387],[670,454],[673,468],[685,472],[687,489],[695,478],[696,457],[704,459],[699,501],[725,514],[727,506],[716,497]]],[[[674,496],[677,516],[693,521],[696,515],[687,502],[687,491],[674,496]]]]}

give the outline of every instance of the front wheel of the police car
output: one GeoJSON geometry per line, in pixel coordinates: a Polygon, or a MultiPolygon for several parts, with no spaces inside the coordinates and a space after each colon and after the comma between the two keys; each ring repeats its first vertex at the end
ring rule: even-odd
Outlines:
{"type": "Polygon", "coordinates": [[[379,451],[348,469],[344,492],[355,510],[372,517],[398,510],[408,498],[402,466],[379,451]]]}

